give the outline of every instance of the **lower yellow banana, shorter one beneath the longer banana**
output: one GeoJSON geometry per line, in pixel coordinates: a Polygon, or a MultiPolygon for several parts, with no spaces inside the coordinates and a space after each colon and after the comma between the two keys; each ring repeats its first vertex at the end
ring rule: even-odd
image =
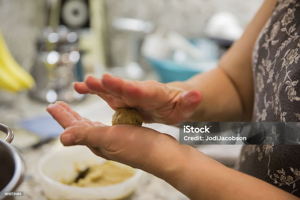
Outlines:
{"type": "Polygon", "coordinates": [[[19,84],[19,82],[16,82],[13,79],[11,79],[9,74],[7,74],[5,70],[3,70],[3,67],[1,65],[0,65],[0,89],[13,91],[13,92],[18,92],[22,90],[22,86],[19,84]]]}

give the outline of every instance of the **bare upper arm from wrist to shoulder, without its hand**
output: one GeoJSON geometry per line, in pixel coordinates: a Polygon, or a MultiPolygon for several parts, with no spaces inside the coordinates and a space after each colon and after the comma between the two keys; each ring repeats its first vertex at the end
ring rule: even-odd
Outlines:
{"type": "Polygon", "coordinates": [[[253,108],[251,57],[256,38],[276,4],[266,0],[247,26],[242,37],[220,59],[217,69],[198,74],[186,82],[167,85],[197,88],[203,100],[190,121],[249,121],[253,108]]]}

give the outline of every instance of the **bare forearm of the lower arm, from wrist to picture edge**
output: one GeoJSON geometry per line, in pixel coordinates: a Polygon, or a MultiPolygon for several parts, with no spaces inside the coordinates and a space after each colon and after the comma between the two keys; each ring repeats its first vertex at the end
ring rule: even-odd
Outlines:
{"type": "Polygon", "coordinates": [[[298,199],[262,180],[227,168],[196,149],[189,151],[182,158],[182,166],[164,179],[192,200],[298,199]]]}

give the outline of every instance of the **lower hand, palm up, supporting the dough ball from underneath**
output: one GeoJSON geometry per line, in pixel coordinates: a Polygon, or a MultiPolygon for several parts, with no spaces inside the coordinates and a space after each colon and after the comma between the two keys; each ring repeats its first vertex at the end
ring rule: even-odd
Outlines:
{"type": "Polygon", "coordinates": [[[60,137],[65,146],[86,145],[100,157],[143,169],[158,177],[173,170],[178,159],[182,159],[179,147],[185,145],[179,145],[167,134],[134,125],[111,127],[92,122],[64,102],[49,105],[47,111],[65,129],[60,137]]]}

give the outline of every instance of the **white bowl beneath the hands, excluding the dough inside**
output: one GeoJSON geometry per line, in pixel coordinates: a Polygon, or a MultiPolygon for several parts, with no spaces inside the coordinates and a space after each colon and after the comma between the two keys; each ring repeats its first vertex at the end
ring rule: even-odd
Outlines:
{"type": "Polygon", "coordinates": [[[121,199],[134,192],[143,174],[139,169],[134,169],[135,174],[131,178],[110,186],[76,187],[61,183],[62,180],[76,178],[78,173],[76,165],[83,170],[92,164],[104,162],[105,159],[96,156],[85,146],[64,147],[43,156],[39,161],[38,174],[41,186],[47,198],[51,200],[121,199]]]}

